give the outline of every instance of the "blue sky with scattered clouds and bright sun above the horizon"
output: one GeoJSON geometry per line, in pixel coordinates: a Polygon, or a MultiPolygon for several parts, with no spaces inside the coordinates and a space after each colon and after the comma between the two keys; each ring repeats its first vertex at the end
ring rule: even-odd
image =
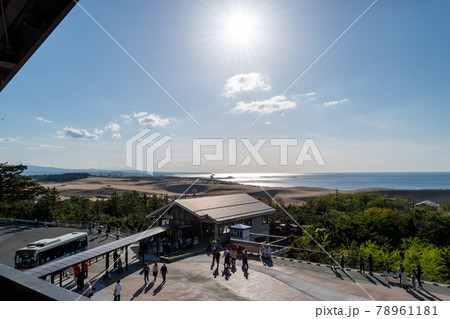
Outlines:
{"type": "Polygon", "coordinates": [[[147,129],[160,171],[450,171],[448,1],[80,5],[0,93],[0,162],[124,169],[147,129]]]}

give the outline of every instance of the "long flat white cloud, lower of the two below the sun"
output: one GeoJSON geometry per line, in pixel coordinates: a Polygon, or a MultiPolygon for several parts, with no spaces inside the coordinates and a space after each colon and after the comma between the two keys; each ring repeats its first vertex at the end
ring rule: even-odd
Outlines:
{"type": "Polygon", "coordinates": [[[231,110],[232,113],[266,113],[294,109],[296,107],[295,102],[286,100],[284,95],[277,95],[265,101],[252,101],[249,103],[238,102],[236,106],[231,110]]]}

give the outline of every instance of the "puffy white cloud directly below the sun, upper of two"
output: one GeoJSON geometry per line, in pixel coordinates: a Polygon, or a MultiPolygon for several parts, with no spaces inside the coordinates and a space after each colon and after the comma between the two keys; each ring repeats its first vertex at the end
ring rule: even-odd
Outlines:
{"type": "Polygon", "coordinates": [[[239,92],[249,92],[256,89],[270,91],[270,83],[266,83],[260,73],[241,73],[236,74],[227,80],[222,95],[234,97],[239,92]]]}

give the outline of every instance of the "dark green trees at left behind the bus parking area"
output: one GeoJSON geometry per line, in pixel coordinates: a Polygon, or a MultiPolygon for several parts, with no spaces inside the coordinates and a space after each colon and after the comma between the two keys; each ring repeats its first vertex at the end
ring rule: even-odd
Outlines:
{"type": "MultiPolygon", "coordinates": [[[[171,200],[167,195],[149,196],[136,191],[114,193],[108,199],[96,201],[78,197],[62,199],[55,188],[43,187],[33,177],[23,175],[26,169],[25,165],[0,163],[0,217],[86,220],[145,230],[153,222],[145,216],[171,200]]],[[[63,175],[64,180],[84,176],[63,175]]]]}

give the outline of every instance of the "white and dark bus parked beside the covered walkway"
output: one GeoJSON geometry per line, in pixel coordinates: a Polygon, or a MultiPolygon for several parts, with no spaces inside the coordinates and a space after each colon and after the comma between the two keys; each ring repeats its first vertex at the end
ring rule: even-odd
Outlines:
{"type": "Polygon", "coordinates": [[[85,232],[41,239],[16,250],[14,265],[18,270],[27,270],[87,249],[88,235],[85,232]]]}

